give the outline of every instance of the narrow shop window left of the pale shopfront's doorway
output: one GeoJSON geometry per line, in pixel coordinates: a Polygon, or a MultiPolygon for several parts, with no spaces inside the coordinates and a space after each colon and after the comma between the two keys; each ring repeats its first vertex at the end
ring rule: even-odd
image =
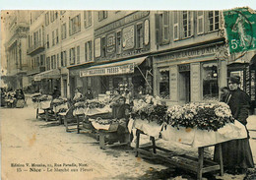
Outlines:
{"type": "Polygon", "coordinates": [[[160,71],[160,97],[169,99],[169,71],[160,71]]]}

